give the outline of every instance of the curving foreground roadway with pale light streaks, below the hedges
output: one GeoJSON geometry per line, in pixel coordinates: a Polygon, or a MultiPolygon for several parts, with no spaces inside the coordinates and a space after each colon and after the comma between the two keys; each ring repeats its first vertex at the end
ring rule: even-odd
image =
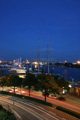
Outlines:
{"type": "Polygon", "coordinates": [[[45,106],[15,97],[0,96],[0,103],[8,105],[18,120],[71,120],[64,115],[56,115],[49,107],[45,109],[45,106]]]}

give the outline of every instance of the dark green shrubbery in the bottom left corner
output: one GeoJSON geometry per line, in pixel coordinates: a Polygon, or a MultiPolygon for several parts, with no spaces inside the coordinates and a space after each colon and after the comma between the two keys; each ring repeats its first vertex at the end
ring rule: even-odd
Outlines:
{"type": "Polygon", "coordinates": [[[16,120],[16,117],[0,105],[0,120],[16,120]]]}

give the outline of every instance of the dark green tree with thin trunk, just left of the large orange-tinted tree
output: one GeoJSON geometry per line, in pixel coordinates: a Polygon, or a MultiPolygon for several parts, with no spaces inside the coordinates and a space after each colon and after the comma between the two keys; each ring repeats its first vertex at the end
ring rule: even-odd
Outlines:
{"type": "Polygon", "coordinates": [[[29,97],[30,97],[31,87],[35,86],[36,83],[37,83],[37,79],[36,79],[35,75],[33,75],[31,73],[26,74],[26,77],[23,82],[23,86],[28,86],[29,97]]]}

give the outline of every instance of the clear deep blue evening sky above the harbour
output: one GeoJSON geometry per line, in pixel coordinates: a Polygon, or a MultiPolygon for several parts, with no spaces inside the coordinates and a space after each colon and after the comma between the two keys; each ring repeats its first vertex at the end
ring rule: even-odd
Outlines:
{"type": "Polygon", "coordinates": [[[0,60],[80,60],[80,0],[0,0],[0,60]],[[45,50],[44,50],[45,49],[45,50]]]}

